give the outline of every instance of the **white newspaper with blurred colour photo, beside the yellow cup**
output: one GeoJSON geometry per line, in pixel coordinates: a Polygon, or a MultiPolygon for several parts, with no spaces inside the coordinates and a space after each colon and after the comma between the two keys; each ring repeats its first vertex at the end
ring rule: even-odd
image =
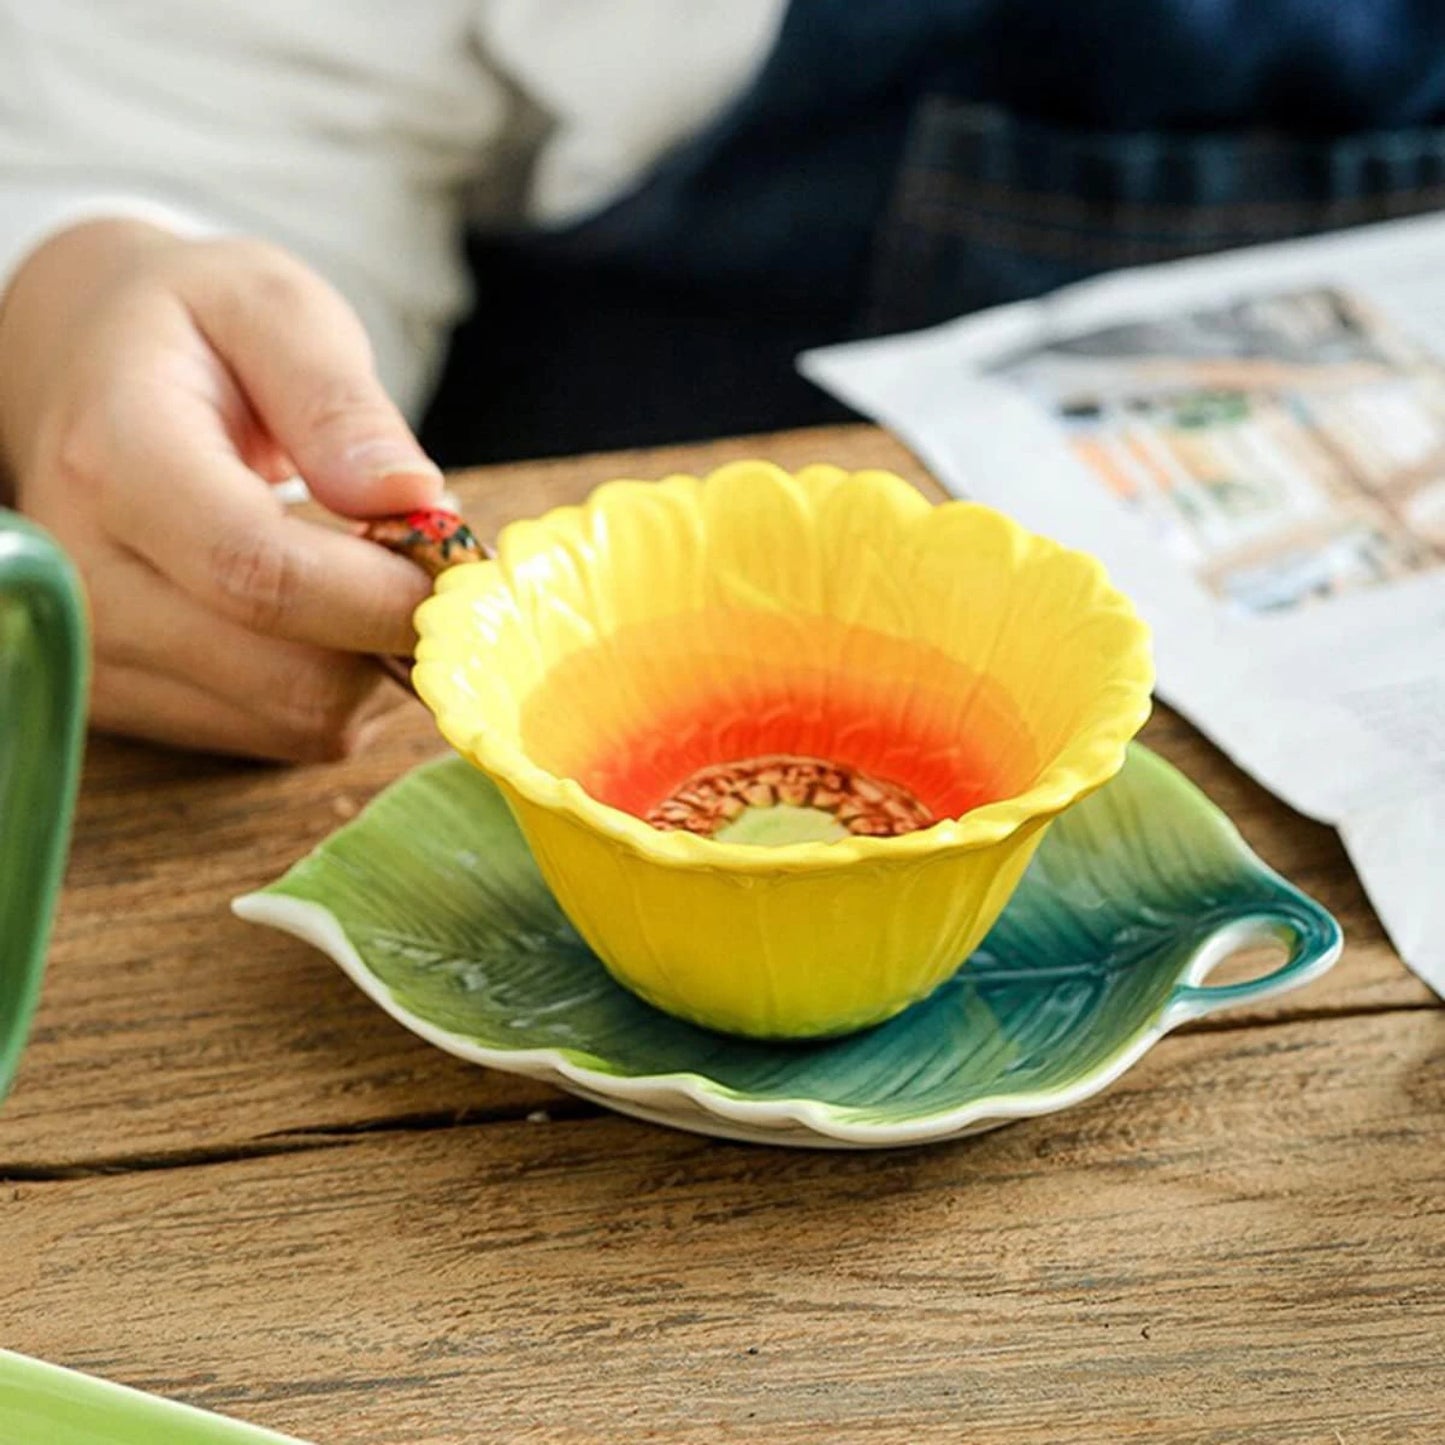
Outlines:
{"type": "Polygon", "coordinates": [[[1445,218],[1121,272],[805,376],[1100,556],[1159,692],[1445,996],[1445,218]]]}

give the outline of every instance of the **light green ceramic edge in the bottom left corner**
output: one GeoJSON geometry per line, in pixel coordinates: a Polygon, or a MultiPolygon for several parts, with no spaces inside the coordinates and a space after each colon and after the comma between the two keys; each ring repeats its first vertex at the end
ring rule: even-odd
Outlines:
{"type": "Polygon", "coordinates": [[[155,1394],[0,1350],[6,1445],[302,1445],[155,1394]]]}

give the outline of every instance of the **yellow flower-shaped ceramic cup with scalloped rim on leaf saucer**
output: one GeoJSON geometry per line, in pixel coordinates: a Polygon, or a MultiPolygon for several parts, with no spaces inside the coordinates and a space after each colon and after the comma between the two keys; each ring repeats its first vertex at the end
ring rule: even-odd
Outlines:
{"type": "Polygon", "coordinates": [[[416,627],[418,694],[608,971],[769,1039],[954,974],[1153,681],[1098,562],[832,467],[608,483],[439,571],[416,627]]]}

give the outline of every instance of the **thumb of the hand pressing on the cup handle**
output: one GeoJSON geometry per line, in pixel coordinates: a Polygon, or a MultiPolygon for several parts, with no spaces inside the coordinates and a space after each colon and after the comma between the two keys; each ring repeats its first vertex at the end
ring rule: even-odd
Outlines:
{"type": "Polygon", "coordinates": [[[442,474],[377,380],[355,312],[285,253],[238,249],[198,321],[315,499],[348,517],[435,506],[442,474]]]}

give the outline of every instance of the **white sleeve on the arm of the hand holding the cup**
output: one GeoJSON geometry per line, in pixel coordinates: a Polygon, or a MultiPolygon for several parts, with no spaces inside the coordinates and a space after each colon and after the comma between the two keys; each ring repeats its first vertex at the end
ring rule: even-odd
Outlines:
{"type": "Polygon", "coordinates": [[[474,0],[4,0],[0,282],[78,220],[285,246],[415,415],[468,299],[464,197],[513,94],[474,0]]]}

